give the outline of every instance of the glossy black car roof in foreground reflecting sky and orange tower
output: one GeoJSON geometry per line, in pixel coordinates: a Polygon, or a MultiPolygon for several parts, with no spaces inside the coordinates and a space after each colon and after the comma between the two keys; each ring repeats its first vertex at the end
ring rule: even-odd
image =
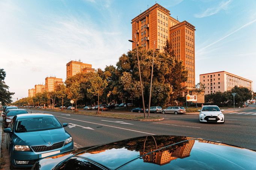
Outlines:
{"type": "Polygon", "coordinates": [[[249,149],[192,137],[144,136],[64,152],[38,161],[32,169],[59,170],[71,157],[84,157],[109,169],[256,168],[256,152],[249,149]]]}

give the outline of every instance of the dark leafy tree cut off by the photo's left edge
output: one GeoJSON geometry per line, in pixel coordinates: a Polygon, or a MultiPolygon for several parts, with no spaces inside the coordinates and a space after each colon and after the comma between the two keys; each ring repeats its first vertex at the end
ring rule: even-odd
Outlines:
{"type": "Polygon", "coordinates": [[[0,101],[2,105],[12,103],[12,95],[14,92],[9,91],[9,86],[5,84],[6,72],[0,69],[0,101]]]}

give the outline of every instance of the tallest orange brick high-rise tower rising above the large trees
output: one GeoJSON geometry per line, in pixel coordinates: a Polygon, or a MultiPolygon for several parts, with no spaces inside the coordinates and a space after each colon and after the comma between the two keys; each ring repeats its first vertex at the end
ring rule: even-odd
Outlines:
{"type": "MultiPolygon", "coordinates": [[[[166,40],[172,43],[172,49],[178,60],[182,60],[188,71],[187,82],[182,83],[187,88],[182,96],[195,95],[195,27],[187,21],[179,22],[170,16],[170,11],[159,4],[155,4],[131,20],[132,40],[145,49],[155,48],[163,52],[166,40]]],[[[133,43],[132,48],[136,48],[133,43]]],[[[202,101],[204,101],[204,95],[202,101]]]]}

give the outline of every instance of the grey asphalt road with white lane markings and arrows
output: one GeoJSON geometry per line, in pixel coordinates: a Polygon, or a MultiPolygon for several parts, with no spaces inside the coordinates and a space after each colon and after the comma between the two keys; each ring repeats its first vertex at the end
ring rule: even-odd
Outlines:
{"type": "MultiPolygon", "coordinates": [[[[199,123],[198,115],[161,115],[158,122],[141,122],[97,116],[86,116],[46,110],[32,110],[34,113],[50,113],[66,127],[75,142],[75,147],[85,147],[114,142],[131,137],[152,134],[169,134],[201,137],[231,145],[256,150],[256,115],[225,114],[224,124],[199,123]]],[[[248,112],[255,112],[256,109],[248,112]]]]}

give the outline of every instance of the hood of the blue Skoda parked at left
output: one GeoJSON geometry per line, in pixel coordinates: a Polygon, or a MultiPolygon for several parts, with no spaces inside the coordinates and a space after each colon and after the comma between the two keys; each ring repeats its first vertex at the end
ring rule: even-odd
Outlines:
{"type": "Polygon", "coordinates": [[[13,136],[14,145],[47,145],[47,142],[56,143],[66,140],[70,135],[66,133],[64,128],[15,133],[13,136]]]}

